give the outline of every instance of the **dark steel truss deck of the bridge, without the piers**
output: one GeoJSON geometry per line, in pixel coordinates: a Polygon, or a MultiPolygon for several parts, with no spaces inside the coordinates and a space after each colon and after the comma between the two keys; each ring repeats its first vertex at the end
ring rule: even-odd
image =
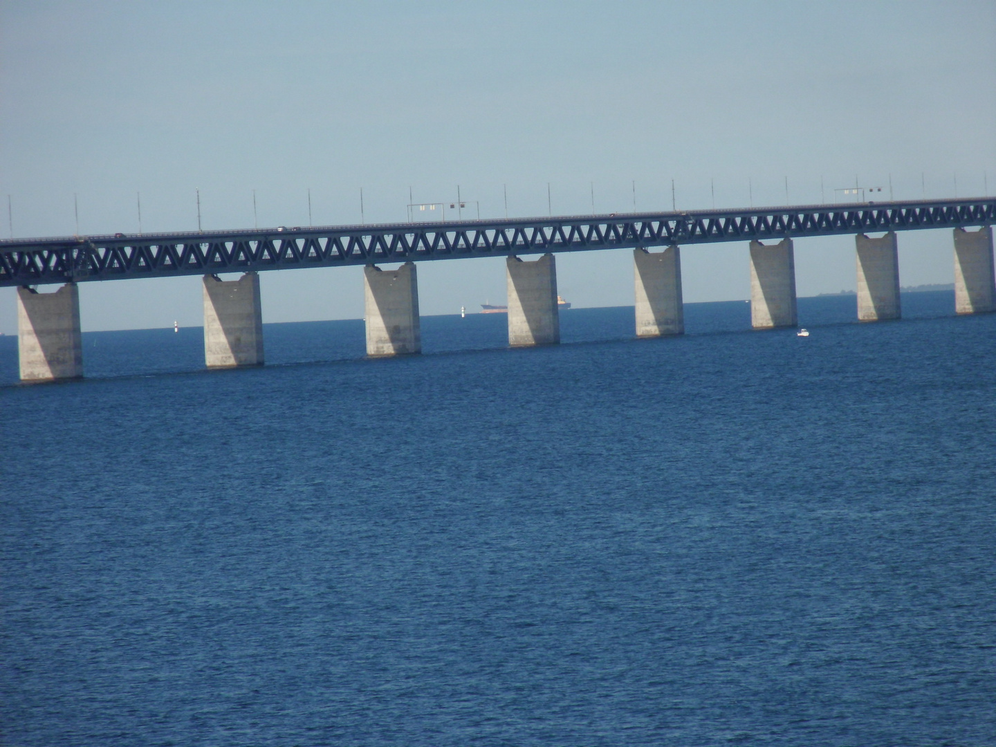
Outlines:
{"type": "Polygon", "coordinates": [[[0,287],[996,223],[996,198],[0,241],[0,287]]]}

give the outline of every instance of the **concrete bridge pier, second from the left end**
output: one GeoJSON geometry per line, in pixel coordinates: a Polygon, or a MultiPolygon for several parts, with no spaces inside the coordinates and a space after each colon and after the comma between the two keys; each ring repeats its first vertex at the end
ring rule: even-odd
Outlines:
{"type": "Polygon", "coordinates": [[[204,276],[204,361],[208,369],[263,365],[259,275],[204,276]]]}

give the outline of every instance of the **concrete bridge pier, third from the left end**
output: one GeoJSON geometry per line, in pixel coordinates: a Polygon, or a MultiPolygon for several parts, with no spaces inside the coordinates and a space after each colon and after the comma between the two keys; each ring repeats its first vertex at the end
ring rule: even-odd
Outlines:
{"type": "Polygon", "coordinates": [[[422,352],[415,265],[396,270],[364,268],[367,355],[403,356],[422,352]]]}

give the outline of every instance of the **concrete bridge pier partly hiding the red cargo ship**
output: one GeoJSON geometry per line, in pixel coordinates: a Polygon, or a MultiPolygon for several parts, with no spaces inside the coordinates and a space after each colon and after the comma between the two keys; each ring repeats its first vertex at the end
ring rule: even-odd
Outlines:
{"type": "Polygon", "coordinates": [[[544,254],[535,262],[509,257],[508,344],[514,348],[560,342],[557,262],[544,254]]]}

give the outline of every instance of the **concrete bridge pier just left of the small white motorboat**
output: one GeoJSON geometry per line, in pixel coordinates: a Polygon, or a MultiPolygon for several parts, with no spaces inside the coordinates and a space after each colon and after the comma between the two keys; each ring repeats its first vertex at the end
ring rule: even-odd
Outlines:
{"type": "Polygon", "coordinates": [[[798,324],[792,239],[750,242],[750,322],[755,330],[798,324]]]}

